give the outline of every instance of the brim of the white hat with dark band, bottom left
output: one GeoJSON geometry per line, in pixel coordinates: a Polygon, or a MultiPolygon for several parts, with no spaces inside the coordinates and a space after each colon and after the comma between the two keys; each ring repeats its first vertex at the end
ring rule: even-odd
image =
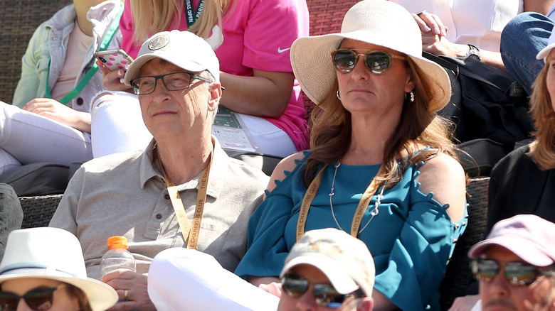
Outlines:
{"type": "Polygon", "coordinates": [[[116,291],[100,280],[79,278],[59,271],[47,271],[44,268],[24,268],[3,273],[0,275],[0,283],[17,278],[47,278],[74,285],[87,295],[93,311],[107,310],[115,305],[118,299],[116,291]]]}

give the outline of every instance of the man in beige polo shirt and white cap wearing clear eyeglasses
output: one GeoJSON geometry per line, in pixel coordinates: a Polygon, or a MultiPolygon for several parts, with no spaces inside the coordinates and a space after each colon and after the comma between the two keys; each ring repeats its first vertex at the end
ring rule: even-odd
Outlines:
{"type": "Polygon", "coordinates": [[[164,249],[198,249],[230,271],[245,253],[248,219],[268,177],[229,158],[211,136],[219,77],[216,54],[193,33],[162,32],[143,43],[125,82],[154,139],[144,151],[83,164],[53,216],[51,227],[78,237],[88,276],[126,300],[117,310],[154,310],[144,273],[164,249]],[[110,236],[127,237],[136,273],[100,274],[110,236]]]}

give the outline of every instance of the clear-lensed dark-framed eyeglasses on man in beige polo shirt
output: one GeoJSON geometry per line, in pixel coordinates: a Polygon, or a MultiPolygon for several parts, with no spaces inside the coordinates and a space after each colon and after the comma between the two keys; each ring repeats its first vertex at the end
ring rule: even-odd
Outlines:
{"type": "Polygon", "coordinates": [[[205,77],[195,75],[189,72],[176,72],[168,75],[155,75],[152,77],[138,77],[131,81],[133,92],[137,95],[146,95],[154,92],[157,80],[161,79],[164,87],[169,91],[181,91],[181,89],[188,89],[194,80],[201,80],[211,82],[205,77]]]}

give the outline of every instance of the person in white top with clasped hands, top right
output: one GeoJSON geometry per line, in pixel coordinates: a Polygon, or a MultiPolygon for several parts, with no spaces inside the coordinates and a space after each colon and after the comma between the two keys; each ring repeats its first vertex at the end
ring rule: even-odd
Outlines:
{"type": "MultiPolygon", "coordinates": [[[[423,50],[452,58],[472,56],[505,70],[499,41],[511,18],[522,12],[547,13],[553,0],[390,0],[413,13],[423,50]]],[[[518,33],[519,38],[522,33],[518,33]]],[[[514,45],[519,50],[520,43],[514,45]]]]}

